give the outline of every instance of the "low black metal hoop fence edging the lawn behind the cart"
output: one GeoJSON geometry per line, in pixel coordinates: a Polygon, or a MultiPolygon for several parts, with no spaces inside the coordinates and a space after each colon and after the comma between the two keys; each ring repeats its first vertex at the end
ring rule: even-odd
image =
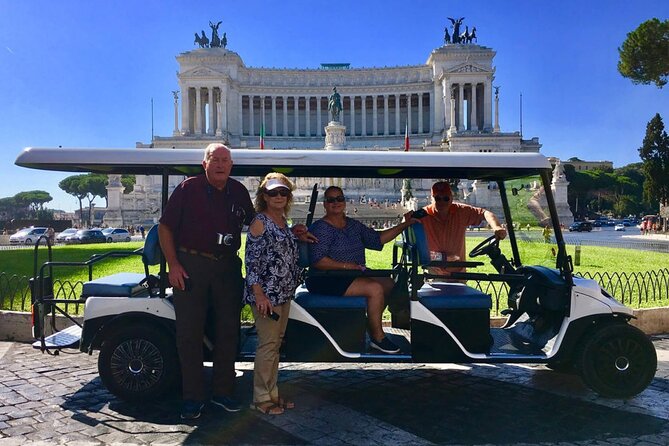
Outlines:
{"type": "MultiPolygon", "coordinates": [[[[575,275],[593,279],[607,290],[619,302],[630,307],[666,306],[669,305],[669,269],[637,273],[589,273],[576,272],[575,275]]],[[[494,301],[493,314],[507,308],[506,299],[509,287],[502,282],[469,281],[468,284],[480,291],[490,294],[494,301]]],[[[68,280],[55,280],[53,283],[54,297],[57,299],[76,300],[81,295],[83,283],[68,280]]],[[[30,284],[26,276],[8,275],[0,272],[0,309],[14,311],[30,310],[30,284]]],[[[78,314],[79,304],[68,305],[66,311],[78,314]]]]}

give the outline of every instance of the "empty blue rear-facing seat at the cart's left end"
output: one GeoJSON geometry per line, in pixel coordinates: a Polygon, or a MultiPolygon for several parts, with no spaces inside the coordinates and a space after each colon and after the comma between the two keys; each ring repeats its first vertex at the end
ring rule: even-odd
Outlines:
{"type": "Polygon", "coordinates": [[[158,225],[154,225],[147,233],[144,240],[144,248],[142,249],[144,274],[117,273],[88,281],[83,285],[81,297],[146,297],[156,295],[154,289],[160,281],[157,276],[149,273],[149,266],[160,263],[160,257],[158,225]]]}

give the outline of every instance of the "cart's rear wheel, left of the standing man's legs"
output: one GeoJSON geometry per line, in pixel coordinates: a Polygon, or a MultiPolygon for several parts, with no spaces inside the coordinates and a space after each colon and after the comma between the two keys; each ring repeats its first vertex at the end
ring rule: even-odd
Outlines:
{"type": "Polygon", "coordinates": [[[179,377],[174,337],[151,325],[119,327],[102,344],[98,371],[105,387],[123,400],[161,397],[179,377]]]}

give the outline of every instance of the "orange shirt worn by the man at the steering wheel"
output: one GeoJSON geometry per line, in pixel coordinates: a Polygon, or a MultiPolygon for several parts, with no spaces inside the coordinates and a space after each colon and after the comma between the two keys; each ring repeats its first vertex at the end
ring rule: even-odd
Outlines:
{"type": "MultiPolygon", "coordinates": [[[[451,203],[446,216],[437,215],[433,204],[425,207],[427,215],[421,219],[431,252],[442,253],[443,260],[458,256],[467,260],[465,254],[465,232],[467,226],[478,226],[485,220],[485,209],[464,203],[451,203]]],[[[448,271],[464,271],[465,268],[448,268],[448,271]]]]}

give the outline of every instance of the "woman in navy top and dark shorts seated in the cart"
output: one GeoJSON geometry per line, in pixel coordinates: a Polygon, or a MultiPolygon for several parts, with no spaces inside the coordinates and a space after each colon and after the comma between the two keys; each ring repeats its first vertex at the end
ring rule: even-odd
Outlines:
{"type": "MultiPolygon", "coordinates": [[[[377,232],[346,216],[346,198],[341,188],[330,186],[323,200],[325,216],[311,225],[309,232],[318,243],[311,245],[310,264],[316,270],[364,271],[365,248],[380,251],[408,226],[418,222],[404,215],[397,226],[377,232]]],[[[367,298],[367,324],[371,347],[384,353],[400,349],[386,338],[381,325],[386,297],[393,288],[390,277],[309,277],[307,289],[312,293],[367,298]]]]}

